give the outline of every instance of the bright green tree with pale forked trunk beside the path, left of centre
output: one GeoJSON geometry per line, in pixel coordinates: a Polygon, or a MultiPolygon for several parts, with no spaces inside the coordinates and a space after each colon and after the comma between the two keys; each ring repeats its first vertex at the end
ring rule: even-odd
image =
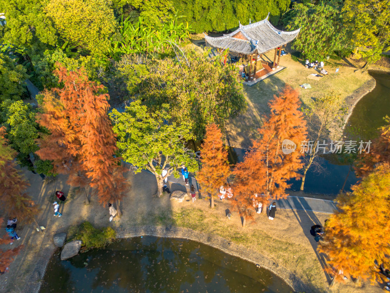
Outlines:
{"type": "Polygon", "coordinates": [[[162,195],[163,180],[171,174],[177,177],[182,164],[190,172],[196,169],[194,154],[185,147],[185,141],[193,138],[190,129],[185,124],[169,123],[168,105],[148,113],[147,107],[136,101],[123,113],[114,109],[110,116],[121,156],[136,173],[147,169],[156,176],[157,197],[162,195]],[[167,174],[163,177],[165,167],[167,174]]]}

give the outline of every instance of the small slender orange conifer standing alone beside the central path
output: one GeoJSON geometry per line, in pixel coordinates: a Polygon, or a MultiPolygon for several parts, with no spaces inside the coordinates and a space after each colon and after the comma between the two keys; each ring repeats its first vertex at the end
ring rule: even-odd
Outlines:
{"type": "Polygon", "coordinates": [[[202,189],[211,196],[211,208],[214,208],[214,196],[218,194],[220,186],[226,187],[226,179],[230,175],[228,152],[223,147],[222,133],[216,124],[206,127],[206,135],[201,146],[202,169],[196,179],[202,189]]]}

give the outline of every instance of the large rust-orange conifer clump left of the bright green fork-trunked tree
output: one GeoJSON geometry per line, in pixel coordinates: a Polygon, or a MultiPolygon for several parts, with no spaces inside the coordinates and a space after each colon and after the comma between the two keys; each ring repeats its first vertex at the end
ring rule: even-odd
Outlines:
{"type": "Polygon", "coordinates": [[[89,81],[83,69],[68,72],[59,66],[56,72],[64,86],[44,95],[44,113],[38,122],[51,134],[37,153],[54,160],[57,170],[70,173],[69,184],[84,187],[90,183],[101,204],[119,205],[128,184],[120,159],[114,156],[116,138],[107,115],[110,97],[98,94],[103,86],[89,81]]]}

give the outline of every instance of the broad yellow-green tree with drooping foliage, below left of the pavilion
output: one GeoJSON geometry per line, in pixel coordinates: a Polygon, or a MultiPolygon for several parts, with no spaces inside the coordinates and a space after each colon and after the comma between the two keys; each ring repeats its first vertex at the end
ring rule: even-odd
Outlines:
{"type": "Polygon", "coordinates": [[[134,98],[151,111],[169,104],[174,121],[188,125],[196,138],[202,139],[207,125],[223,128],[228,118],[247,106],[237,68],[224,66],[220,58],[209,60],[207,52],[202,56],[187,51],[180,63],[171,58],[145,61],[149,62],[149,74],[137,85],[134,98]]]}

